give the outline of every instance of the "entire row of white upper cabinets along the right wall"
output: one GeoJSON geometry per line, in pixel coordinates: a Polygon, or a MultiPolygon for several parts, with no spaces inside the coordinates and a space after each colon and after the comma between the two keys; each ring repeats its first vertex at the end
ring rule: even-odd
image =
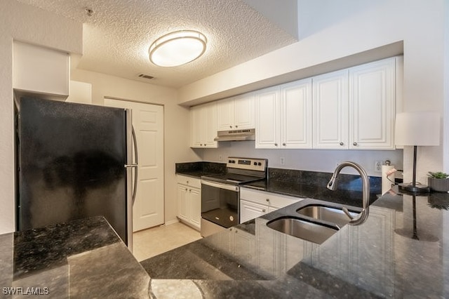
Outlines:
{"type": "Polygon", "coordinates": [[[216,131],[255,128],[259,149],[394,150],[396,60],[219,100],[215,112],[194,107],[192,147],[217,147],[216,131]]]}

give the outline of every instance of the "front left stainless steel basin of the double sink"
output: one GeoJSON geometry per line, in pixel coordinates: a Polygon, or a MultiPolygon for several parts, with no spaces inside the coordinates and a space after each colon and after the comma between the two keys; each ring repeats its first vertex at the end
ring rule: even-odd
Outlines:
{"type": "Polygon", "coordinates": [[[290,236],[321,244],[338,231],[337,227],[320,225],[294,217],[281,217],[271,220],[267,226],[290,236]]]}

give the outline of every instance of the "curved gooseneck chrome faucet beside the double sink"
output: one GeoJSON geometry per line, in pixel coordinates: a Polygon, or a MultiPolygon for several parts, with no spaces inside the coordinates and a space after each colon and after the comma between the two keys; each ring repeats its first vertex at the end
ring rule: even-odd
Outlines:
{"type": "Polygon", "coordinates": [[[348,209],[346,207],[343,207],[343,212],[349,217],[349,219],[351,219],[351,221],[349,221],[349,224],[351,225],[361,225],[363,222],[366,221],[366,218],[368,218],[368,213],[369,213],[369,205],[370,205],[370,180],[368,180],[368,175],[366,174],[365,169],[363,169],[360,165],[354,163],[354,162],[350,162],[350,161],[346,161],[346,162],[342,162],[341,164],[338,164],[337,168],[335,168],[335,171],[332,175],[332,177],[330,178],[329,182],[328,182],[328,190],[332,190],[334,191],[337,188],[337,176],[340,173],[340,171],[342,171],[342,169],[346,166],[350,166],[352,168],[354,168],[356,171],[358,171],[358,173],[360,173],[360,176],[362,178],[362,183],[363,183],[363,187],[362,187],[362,211],[361,213],[359,213],[356,217],[353,217],[348,209]]]}

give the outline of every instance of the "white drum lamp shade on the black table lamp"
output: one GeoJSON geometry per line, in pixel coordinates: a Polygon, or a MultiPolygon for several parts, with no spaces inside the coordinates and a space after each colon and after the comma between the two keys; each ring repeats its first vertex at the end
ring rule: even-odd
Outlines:
{"type": "Polygon", "coordinates": [[[440,145],[438,112],[405,112],[396,114],[396,145],[440,145]]]}

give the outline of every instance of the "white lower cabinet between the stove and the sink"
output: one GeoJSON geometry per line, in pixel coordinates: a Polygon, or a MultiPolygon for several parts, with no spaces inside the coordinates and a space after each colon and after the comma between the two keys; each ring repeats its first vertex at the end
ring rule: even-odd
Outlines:
{"type": "Polygon", "coordinates": [[[300,198],[250,188],[240,188],[240,222],[257,218],[300,201],[300,198]]]}

